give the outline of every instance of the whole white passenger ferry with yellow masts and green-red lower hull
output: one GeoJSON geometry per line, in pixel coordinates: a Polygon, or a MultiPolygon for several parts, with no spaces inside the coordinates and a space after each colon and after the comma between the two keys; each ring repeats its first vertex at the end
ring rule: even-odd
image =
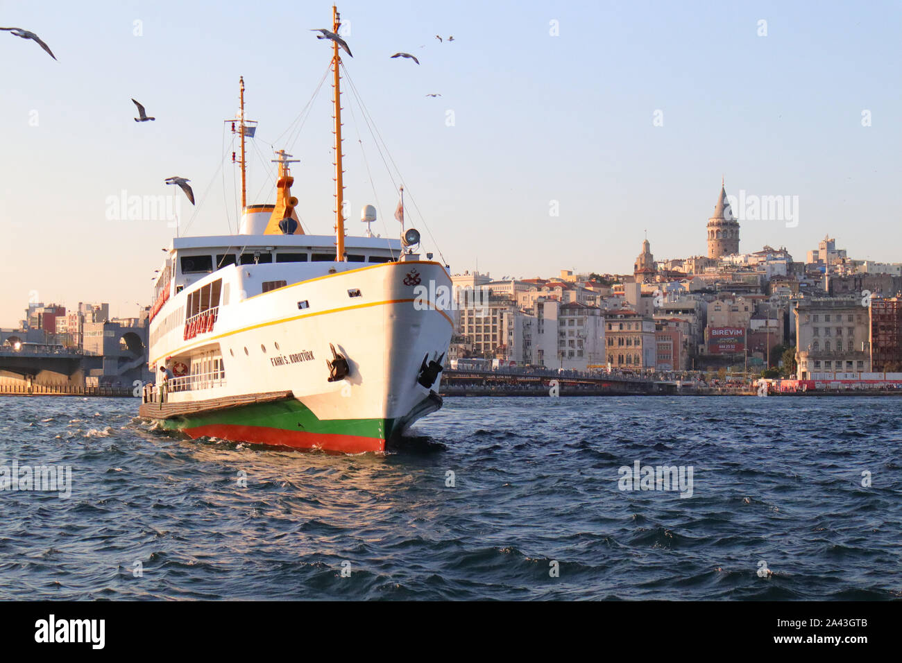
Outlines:
{"type": "MultiPolygon", "coordinates": [[[[340,17],[333,7],[333,32],[340,17]]],[[[237,235],[176,237],[155,282],[142,417],[190,437],[344,453],[382,452],[441,407],[454,322],[415,292],[450,291],[446,265],[419,256],[419,232],[345,236],[341,58],[333,41],[335,235],[307,235],[277,153],[274,205],[247,205],[237,235]],[[420,291],[422,291],[420,290],[420,291]]],[[[401,189],[403,196],[403,189],[401,189]]],[[[400,219],[403,219],[403,198],[400,219]]],[[[364,222],[374,219],[364,207],[364,222]]]]}

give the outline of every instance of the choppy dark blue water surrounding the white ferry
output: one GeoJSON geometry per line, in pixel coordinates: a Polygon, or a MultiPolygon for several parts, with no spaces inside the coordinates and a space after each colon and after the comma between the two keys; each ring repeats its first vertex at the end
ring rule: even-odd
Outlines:
{"type": "Polygon", "coordinates": [[[69,499],[0,493],[0,598],[902,596],[897,399],[446,399],[386,456],[190,441],[136,410],[0,399],[0,461],[73,472],[69,499]],[[692,465],[693,496],[621,491],[637,460],[692,465]]]}

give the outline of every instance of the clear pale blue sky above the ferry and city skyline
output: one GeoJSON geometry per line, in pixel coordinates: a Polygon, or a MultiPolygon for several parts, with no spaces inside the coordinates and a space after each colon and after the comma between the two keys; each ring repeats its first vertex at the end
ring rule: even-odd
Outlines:
{"type": "MultiPolygon", "coordinates": [[[[895,0],[338,8],[345,66],[453,272],[630,272],[646,229],[658,259],[705,253],[722,176],[730,194],[798,197],[794,227],[743,222],[742,251],[785,245],[804,260],[829,233],[852,257],[902,261],[895,0]]],[[[301,160],[305,226],[332,232],[328,83],[299,138],[285,134],[326,71],[329,42],[308,30],[331,25],[330,3],[0,0],[0,25],[36,32],[59,59],[0,32],[0,326],[18,324],[30,293],[124,316],[149,303],[173,229],[108,219],[123,190],[172,194],[163,180],[187,177],[186,234],[235,229],[222,121],[239,76],[260,122],[249,202],[273,201],[269,160],[284,147],[301,160]],[[131,97],[157,120],[133,122],[131,97]]],[[[394,234],[392,182],[350,96],[344,119],[348,226],[359,232],[378,196],[373,229],[394,234]]]]}

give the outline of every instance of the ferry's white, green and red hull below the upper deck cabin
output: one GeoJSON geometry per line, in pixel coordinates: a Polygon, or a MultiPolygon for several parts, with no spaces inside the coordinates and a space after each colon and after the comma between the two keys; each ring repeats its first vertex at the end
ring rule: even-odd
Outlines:
{"type": "Polygon", "coordinates": [[[450,291],[437,262],[252,264],[213,272],[172,296],[153,320],[152,369],[182,371],[165,389],[148,391],[142,414],[191,437],[382,451],[386,439],[441,404],[441,374],[434,369],[430,381],[421,369],[424,359],[440,363],[446,355],[453,320],[449,310],[418,298],[417,285],[428,289],[430,281],[431,291],[450,291]],[[296,274],[287,281],[298,271],[310,277],[260,292],[262,282],[278,283],[287,269],[296,274]],[[219,280],[218,308],[179,319],[189,293],[205,285],[216,291],[219,280]],[[333,347],[348,370],[329,382],[333,347]]]}

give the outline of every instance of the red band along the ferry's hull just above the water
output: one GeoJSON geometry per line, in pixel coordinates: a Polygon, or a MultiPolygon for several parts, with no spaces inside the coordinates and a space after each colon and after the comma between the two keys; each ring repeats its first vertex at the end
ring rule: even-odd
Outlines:
{"type": "Polygon", "coordinates": [[[368,451],[384,451],[385,440],[361,435],[338,433],[308,433],[303,430],[266,428],[264,426],[239,426],[237,424],[207,424],[197,428],[183,428],[192,438],[219,437],[235,442],[251,442],[272,447],[299,449],[325,449],[343,454],[362,454],[368,451]]]}

